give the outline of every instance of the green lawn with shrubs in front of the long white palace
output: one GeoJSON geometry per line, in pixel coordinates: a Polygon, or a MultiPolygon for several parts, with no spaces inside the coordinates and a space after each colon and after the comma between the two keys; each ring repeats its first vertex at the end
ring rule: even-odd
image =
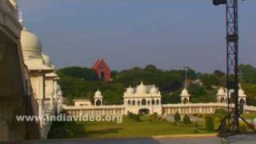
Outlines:
{"type": "Polygon", "coordinates": [[[123,118],[122,123],[117,122],[77,122],[70,124],[54,124],[49,138],[145,138],[158,135],[173,134],[209,134],[204,130],[205,122],[183,124],[182,122],[166,122],[143,116],[142,122],[130,118],[123,118]],[[68,134],[61,134],[66,131],[68,134]],[[56,134],[57,133],[57,134],[56,134]]]}

